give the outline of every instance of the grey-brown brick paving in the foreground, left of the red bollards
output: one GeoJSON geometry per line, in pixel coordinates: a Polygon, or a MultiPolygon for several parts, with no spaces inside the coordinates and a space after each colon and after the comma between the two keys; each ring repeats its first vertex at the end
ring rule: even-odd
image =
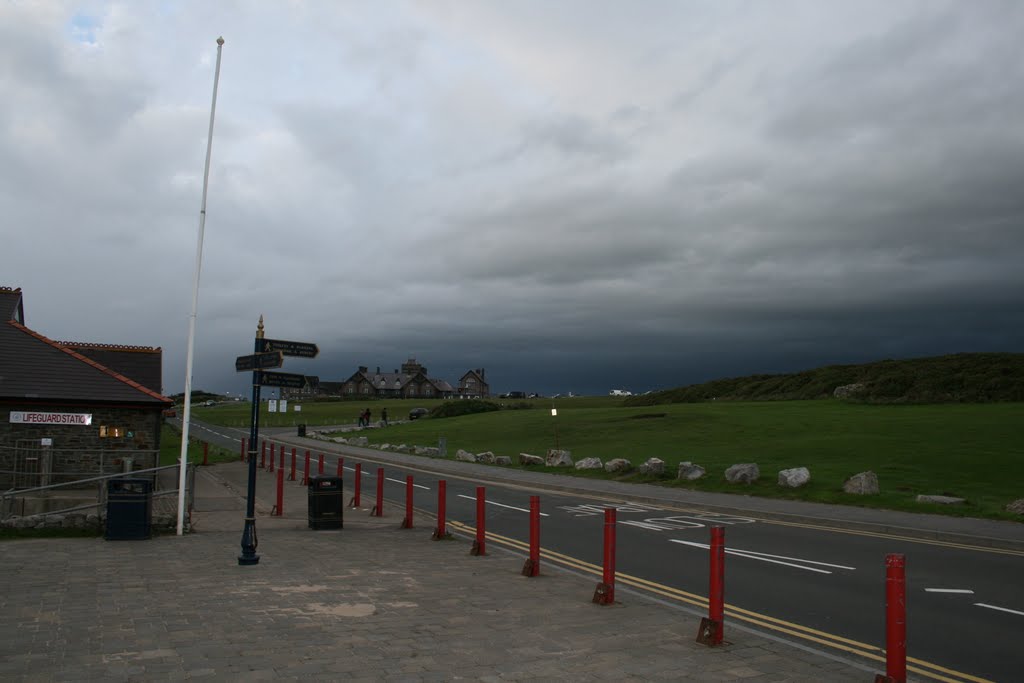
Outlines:
{"type": "Polygon", "coordinates": [[[238,565],[241,464],[203,468],[195,531],[151,541],[0,545],[0,680],[151,681],[865,681],[849,661],[727,628],[694,642],[697,620],[594,581],[470,543],[400,529],[401,510],[346,511],[306,528],[305,489],[265,516],[260,563],[238,565]]]}

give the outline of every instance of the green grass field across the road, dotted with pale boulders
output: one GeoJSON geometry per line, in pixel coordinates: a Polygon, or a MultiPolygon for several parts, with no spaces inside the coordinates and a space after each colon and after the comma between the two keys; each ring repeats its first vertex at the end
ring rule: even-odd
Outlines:
{"type": "MultiPolygon", "coordinates": [[[[366,407],[386,407],[392,419],[414,407],[440,401],[368,401],[303,404],[302,413],[264,413],[262,424],[308,425],[354,423],[366,407]]],[[[626,458],[639,465],[650,457],[666,462],[668,476],[657,483],[699,490],[742,493],[845,505],[938,512],[952,515],[1018,519],[1005,506],[1024,490],[1024,404],[944,403],[884,405],[836,400],[703,402],[624,408],[610,397],[526,401],[530,410],[509,410],[450,419],[423,419],[385,430],[366,432],[371,442],[435,445],[447,440],[457,449],[492,451],[513,457],[544,455],[557,443],[574,460],[626,458]],[[557,417],[551,408],[558,409],[557,417]],[[676,482],[682,461],[705,467],[694,483],[676,482]],[[751,485],[725,481],[727,467],[757,463],[761,480],[751,485]],[[807,467],[811,482],[803,488],[780,488],[780,469],[807,467]],[[872,470],[882,494],[844,494],[843,481],[872,470]],[[967,499],[959,506],[924,505],[919,494],[967,499]]],[[[264,407],[265,410],[265,407],[264,407]]],[[[200,420],[248,425],[249,404],[199,408],[200,420]]],[[[561,470],[565,471],[565,470],[561,470]]],[[[603,471],[572,474],[607,477],[603,471]]],[[[650,480],[631,474],[627,480],[650,480]]]]}

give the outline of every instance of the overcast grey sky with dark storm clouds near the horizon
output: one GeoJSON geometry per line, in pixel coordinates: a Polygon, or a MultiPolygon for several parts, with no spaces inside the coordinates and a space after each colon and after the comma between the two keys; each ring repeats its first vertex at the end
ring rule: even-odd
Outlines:
{"type": "Polygon", "coordinates": [[[606,393],[1024,345],[1024,3],[4,2],[0,285],[193,386],[606,393]]]}

